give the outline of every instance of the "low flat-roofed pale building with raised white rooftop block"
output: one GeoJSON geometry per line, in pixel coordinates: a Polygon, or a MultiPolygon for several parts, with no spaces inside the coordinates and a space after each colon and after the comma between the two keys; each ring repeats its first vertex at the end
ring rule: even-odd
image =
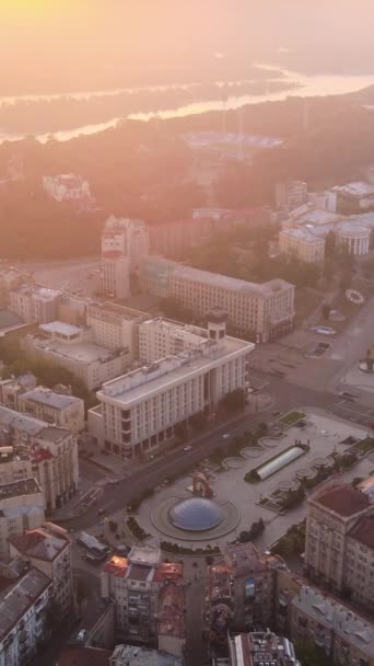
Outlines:
{"type": "Polygon", "coordinates": [[[27,334],[25,348],[38,356],[49,358],[79,377],[90,391],[104,381],[118,377],[129,365],[128,352],[114,352],[92,342],[92,333],[79,326],[54,321],[40,326],[37,335],[27,334]]]}

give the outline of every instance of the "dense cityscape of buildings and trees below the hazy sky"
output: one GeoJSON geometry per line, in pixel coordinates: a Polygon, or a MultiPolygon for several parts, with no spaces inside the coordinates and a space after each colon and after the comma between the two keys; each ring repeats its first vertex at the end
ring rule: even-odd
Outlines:
{"type": "Polygon", "coordinates": [[[194,62],[0,90],[0,666],[374,666],[373,88],[194,62]]]}

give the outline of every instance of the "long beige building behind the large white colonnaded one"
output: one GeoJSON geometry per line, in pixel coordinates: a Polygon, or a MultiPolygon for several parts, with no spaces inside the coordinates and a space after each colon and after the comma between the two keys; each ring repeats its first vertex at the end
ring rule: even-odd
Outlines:
{"type": "Polygon", "coordinates": [[[293,328],[294,286],[282,279],[247,283],[150,257],[140,267],[140,283],[145,291],[175,298],[201,318],[211,308],[224,309],[230,332],[257,343],[276,340],[293,328]]]}

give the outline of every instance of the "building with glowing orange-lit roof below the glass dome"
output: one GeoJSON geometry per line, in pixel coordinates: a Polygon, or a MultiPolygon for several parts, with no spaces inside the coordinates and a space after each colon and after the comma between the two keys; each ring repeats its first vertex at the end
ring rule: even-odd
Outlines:
{"type": "Polygon", "coordinates": [[[102,574],[102,596],[116,604],[117,635],[129,642],[156,646],[159,608],[160,622],[165,620],[162,601],[160,607],[160,593],[182,575],[182,565],[161,562],[157,549],[135,546],[128,558],[112,558],[102,574]]]}

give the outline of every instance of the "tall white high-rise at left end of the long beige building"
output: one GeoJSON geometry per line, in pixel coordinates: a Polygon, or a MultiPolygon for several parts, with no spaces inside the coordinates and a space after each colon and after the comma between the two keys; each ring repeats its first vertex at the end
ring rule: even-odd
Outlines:
{"type": "Polygon", "coordinates": [[[102,233],[102,254],[119,252],[130,259],[130,269],[139,267],[150,252],[150,236],[145,222],[112,215],[102,233]]]}

